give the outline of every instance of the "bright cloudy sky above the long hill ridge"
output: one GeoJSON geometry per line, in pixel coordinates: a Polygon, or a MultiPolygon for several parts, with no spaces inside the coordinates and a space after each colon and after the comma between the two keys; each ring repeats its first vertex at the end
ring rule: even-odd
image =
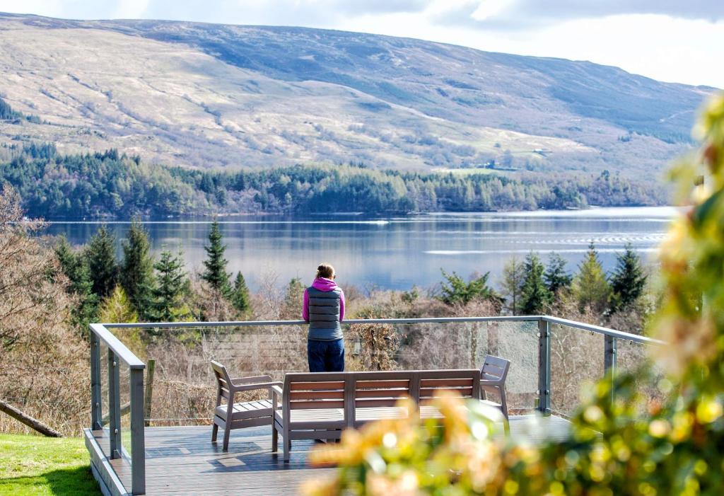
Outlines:
{"type": "Polygon", "coordinates": [[[0,0],[0,12],[406,36],[724,88],[724,0],[0,0]]]}

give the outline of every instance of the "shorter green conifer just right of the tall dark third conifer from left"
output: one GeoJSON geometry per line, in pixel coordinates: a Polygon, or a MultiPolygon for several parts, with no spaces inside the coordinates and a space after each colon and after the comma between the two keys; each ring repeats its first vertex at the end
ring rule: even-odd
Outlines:
{"type": "Polygon", "coordinates": [[[156,269],[156,285],[153,287],[153,319],[174,322],[184,319],[188,311],[183,305],[187,286],[181,252],[178,256],[164,250],[153,268],[156,269]]]}

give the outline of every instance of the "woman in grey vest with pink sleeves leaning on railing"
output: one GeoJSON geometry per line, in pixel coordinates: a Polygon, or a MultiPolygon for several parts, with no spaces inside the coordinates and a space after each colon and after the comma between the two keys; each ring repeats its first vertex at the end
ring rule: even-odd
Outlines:
{"type": "Polygon", "coordinates": [[[345,318],[345,293],[334,282],[335,277],[333,266],[320,264],[314,282],[304,290],[302,318],[309,323],[307,360],[310,372],[345,370],[345,343],[340,325],[345,318]]]}

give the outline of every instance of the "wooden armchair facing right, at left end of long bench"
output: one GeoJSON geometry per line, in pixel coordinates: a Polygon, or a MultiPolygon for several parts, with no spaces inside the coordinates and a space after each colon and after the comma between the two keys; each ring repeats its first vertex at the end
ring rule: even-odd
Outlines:
{"type": "Polygon", "coordinates": [[[240,377],[231,379],[226,367],[217,361],[211,361],[214,369],[216,384],[216,408],[214,409],[214,426],[211,428],[211,442],[216,442],[219,427],[224,429],[224,451],[229,450],[229,434],[231,429],[243,429],[260,425],[271,425],[271,447],[277,450],[277,431],[272,422],[271,387],[281,385],[281,382],[272,382],[269,376],[240,377]],[[268,390],[269,400],[244,401],[235,403],[237,392],[268,390]],[[222,399],[226,403],[222,404],[222,399]]]}

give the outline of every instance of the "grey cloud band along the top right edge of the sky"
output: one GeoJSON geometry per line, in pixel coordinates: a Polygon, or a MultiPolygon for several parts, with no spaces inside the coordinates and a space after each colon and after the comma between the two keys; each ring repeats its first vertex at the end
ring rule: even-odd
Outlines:
{"type": "Polygon", "coordinates": [[[468,0],[452,4],[434,22],[468,28],[516,29],[626,14],[686,20],[724,20],[722,0],[468,0]]]}

